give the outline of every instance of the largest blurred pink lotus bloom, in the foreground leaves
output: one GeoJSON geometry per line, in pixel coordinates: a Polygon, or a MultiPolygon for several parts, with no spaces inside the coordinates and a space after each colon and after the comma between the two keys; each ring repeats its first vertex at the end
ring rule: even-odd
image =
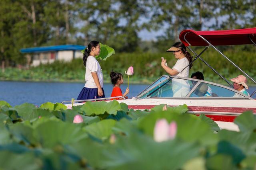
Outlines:
{"type": "Polygon", "coordinates": [[[166,119],[156,121],[156,125],[154,127],[154,140],[156,142],[172,140],[176,137],[176,133],[177,124],[175,121],[172,121],[170,124],[168,124],[166,119]]]}

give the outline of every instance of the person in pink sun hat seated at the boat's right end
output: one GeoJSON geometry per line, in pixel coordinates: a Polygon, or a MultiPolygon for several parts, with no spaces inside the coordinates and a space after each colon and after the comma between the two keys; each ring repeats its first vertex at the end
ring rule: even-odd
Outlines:
{"type": "MultiPolygon", "coordinates": [[[[234,89],[243,93],[243,94],[246,94],[247,96],[250,96],[250,94],[246,91],[246,89],[248,89],[248,86],[246,84],[247,82],[247,78],[243,75],[239,75],[237,76],[236,78],[232,78],[230,79],[232,82],[233,82],[233,85],[234,85],[234,89]]],[[[236,93],[234,95],[234,97],[243,97],[242,95],[236,93]]]]}

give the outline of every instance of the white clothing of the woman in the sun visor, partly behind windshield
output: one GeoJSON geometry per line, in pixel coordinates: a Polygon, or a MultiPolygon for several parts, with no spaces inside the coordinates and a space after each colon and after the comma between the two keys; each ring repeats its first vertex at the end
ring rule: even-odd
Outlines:
{"type": "MultiPolygon", "coordinates": [[[[179,72],[175,76],[188,77],[188,74],[189,74],[188,64],[189,64],[189,61],[186,57],[183,57],[182,59],[178,59],[176,64],[172,67],[172,69],[179,72]]],[[[178,78],[173,78],[172,79],[172,92],[173,92],[173,97],[185,97],[188,94],[188,92],[190,92],[190,85],[188,84],[188,81],[178,79],[178,78]]]]}

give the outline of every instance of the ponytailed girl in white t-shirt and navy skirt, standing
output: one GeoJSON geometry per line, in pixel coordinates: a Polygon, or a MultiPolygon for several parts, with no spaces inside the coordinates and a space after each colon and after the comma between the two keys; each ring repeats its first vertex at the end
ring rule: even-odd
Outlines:
{"type": "Polygon", "coordinates": [[[91,41],[83,54],[85,71],[85,85],[77,100],[105,98],[103,90],[103,74],[95,56],[100,54],[100,43],[91,41]]]}

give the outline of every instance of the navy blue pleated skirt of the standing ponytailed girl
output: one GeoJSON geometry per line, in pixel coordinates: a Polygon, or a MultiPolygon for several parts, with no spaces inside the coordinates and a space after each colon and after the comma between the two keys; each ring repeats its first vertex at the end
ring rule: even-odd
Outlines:
{"type": "Polygon", "coordinates": [[[98,98],[105,98],[105,93],[102,88],[103,95],[100,97],[98,96],[98,88],[86,88],[84,87],[80,94],[78,95],[76,100],[86,100],[86,99],[98,99],[98,98]]]}

